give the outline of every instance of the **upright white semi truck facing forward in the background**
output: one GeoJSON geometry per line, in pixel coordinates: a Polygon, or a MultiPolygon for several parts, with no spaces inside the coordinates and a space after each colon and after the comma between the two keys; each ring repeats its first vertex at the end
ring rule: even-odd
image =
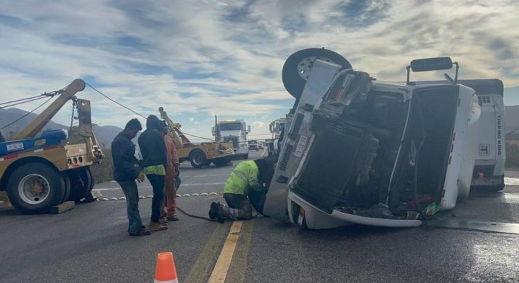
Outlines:
{"type": "Polygon", "coordinates": [[[232,142],[233,159],[248,159],[247,135],[251,126],[247,126],[242,119],[228,119],[218,121],[215,116],[215,126],[211,128],[212,135],[217,142],[232,142]]]}

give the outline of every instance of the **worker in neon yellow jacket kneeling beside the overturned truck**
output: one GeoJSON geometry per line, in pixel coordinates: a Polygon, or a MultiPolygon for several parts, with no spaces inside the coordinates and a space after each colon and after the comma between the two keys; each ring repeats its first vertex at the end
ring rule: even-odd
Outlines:
{"type": "Polygon", "coordinates": [[[209,217],[224,223],[225,219],[252,219],[253,207],[258,213],[263,213],[274,163],[275,159],[267,157],[238,164],[224,186],[224,199],[228,206],[212,202],[209,217]]]}

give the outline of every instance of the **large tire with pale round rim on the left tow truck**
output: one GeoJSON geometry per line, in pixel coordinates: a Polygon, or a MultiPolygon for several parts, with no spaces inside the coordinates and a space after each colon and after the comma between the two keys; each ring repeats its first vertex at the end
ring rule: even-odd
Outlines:
{"type": "Polygon", "coordinates": [[[65,181],[50,165],[32,162],[10,175],[7,193],[12,206],[22,213],[46,213],[60,204],[65,195],[65,181]]]}

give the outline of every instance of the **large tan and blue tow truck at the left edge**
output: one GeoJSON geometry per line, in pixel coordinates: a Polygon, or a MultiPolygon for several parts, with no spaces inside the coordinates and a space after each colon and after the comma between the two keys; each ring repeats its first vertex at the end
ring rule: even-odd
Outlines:
{"type": "Polygon", "coordinates": [[[82,79],[55,92],[57,99],[26,128],[6,141],[0,135],[0,191],[22,213],[42,213],[66,200],[92,201],[94,179],[90,166],[103,158],[92,131],[90,101],[75,97],[82,79]],[[68,144],[66,130],[44,126],[67,101],[78,110],[79,135],[84,144],[68,144]]]}

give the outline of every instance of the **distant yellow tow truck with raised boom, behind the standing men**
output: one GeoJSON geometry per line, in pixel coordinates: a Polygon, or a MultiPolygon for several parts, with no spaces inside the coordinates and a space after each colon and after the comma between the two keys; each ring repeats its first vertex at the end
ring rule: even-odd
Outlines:
{"type": "Polygon", "coordinates": [[[179,162],[188,161],[194,168],[202,168],[215,164],[215,166],[226,166],[230,162],[230,157],[234,155],[233,143],[231,142],[202,142],[192,144],[188,137],[181,131],[181,124],[175,123],[167,116],[163,107],[158,108],[161,118],[167,124],[167,135],[172,137],[179,155],[179,162]]]}

